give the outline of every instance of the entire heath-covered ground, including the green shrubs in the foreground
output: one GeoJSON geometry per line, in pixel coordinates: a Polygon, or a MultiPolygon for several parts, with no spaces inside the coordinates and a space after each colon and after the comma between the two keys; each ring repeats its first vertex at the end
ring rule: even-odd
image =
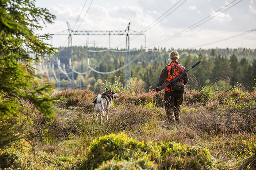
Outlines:
{"type": "MultiPolygon", "coordinates": [[[[137,83],[122,98],[148,93],[137,83]]],[[[140,100],[116,99],[110,120],[95,122],[89,90],[56,94],[55,118],[48,119],[29,101],[19,130],[25,138],[0,149],[7,169],[255,169],[256,89],[217,85],[188,91],[181,122],[170,124],[163,94],[140,100]]],[[[103,90],[102,90],[103,92],[103,90]]]]}

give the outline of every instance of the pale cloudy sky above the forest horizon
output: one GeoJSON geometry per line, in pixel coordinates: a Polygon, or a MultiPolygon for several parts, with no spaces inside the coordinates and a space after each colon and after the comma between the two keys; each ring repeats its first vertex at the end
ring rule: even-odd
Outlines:
{"type": "MultiPolygon", "coordinates": [[[[36,6],[56,16],[40,34],[67,33],[66,22],[74,31],[125,30],[130,22],[130,30],[145,34],[129,35],[130,49],[145,48],[145,41],[149,49],[256,48],[256,31],[246,32],[256,29],[256,0],[37,0],[36,6]]],[[[125,35],[73,35],[72,45],[121,49],[125,40],[125,35]]],[[[46,42],[66,47],[68,35],[46,42]]]]}

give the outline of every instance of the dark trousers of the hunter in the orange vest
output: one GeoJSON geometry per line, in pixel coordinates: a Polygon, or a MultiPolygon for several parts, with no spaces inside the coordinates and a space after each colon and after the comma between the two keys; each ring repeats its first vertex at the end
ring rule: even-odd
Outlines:
{"type": "Polygon", "coordinates": [[[184,93],[165,92],[165,112],[171,122],[180,121],[180,105],[183,102],[184,93]]]}

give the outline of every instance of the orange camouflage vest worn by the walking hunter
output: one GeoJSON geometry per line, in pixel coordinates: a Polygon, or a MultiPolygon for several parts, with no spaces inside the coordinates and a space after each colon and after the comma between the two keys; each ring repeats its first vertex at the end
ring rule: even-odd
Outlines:
{"type": "MultiPolygon", "coordinates": [[[[177,76],[179,76],[180,74],[183,73],[183,66],[176,61],[171,62],[170,64],[166,65],[167,71],[168,71],[168,75],[165,79],[165,82],[170,82],[172,81],[174,78],[176,78],[177,76]]],[[[184,77],[181,78],[178,82],[184,82],[184,77]]],[[[167,92],[173,92],[174,90],[170,89],[169,87],[165,88],[165,91],[167,92]]]]}

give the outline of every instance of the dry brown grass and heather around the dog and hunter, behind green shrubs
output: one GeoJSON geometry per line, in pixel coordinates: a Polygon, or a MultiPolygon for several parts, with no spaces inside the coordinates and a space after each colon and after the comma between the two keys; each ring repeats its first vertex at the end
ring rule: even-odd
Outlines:
{"type": "MultiPolygon", "coordinates": [[[[149,93],[133,95],[121,92],[119,95],[132,99],[149,93]]],[[[28,139],[32,139],[32,146],[56,155],[84,155],[95,138],[124,132],[138,141],[175,141],[208,148],[219,169],[253,169],[255,154],[252,153],[256,147],[251,146],[256,146],[255,94],[255,91],[238,88],[213,93],[209,89],[188,91],[181,106],[179,124],[167,121],[163,92],[140,100],[116,99],[109,109],[110,120],[96,123],[91,103],[96,94],[89,90],[69,90],[56,95],[61,102],[56,107],[55,118],[45,118],[24,101],[23,104],[30,109],[22,112],[26,115],[22,121],[27,123],[25,133],[29,134],[28,139]]]]}

